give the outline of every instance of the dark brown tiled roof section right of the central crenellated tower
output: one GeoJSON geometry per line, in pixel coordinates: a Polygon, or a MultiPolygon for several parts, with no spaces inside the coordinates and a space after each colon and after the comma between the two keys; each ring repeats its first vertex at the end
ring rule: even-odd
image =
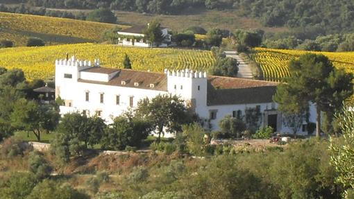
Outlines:
{"type": "Polygon", "coordinates": [[[277,85],[261,80],[209,76],[207,105],[271,103],[277,85]]]}

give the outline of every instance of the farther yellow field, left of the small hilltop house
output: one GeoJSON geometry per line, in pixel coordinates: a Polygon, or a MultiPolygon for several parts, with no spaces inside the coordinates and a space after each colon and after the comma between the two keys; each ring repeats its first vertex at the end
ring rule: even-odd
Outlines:
{"type": "Polygon", "coordinates": [[[114,26],[92,21],[0,12],[0,39],[15,41],[16,46],[24,46],[28,37],[40,37],[47,45],[96,42],[104,31],[114,26]]]}

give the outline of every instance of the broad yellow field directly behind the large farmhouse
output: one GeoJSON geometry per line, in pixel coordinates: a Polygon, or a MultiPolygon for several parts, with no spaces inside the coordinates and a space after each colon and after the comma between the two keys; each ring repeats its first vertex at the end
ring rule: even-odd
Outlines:
{"type": "Polygon", "coordinates": [[[103,67],[122,67],[126,53],[133,69],[163,72],[164,69],[208,69],[214,64],[210,51],[179,49],[142,49],[103,44],[66,44],[43,47],[17,47],[0,49],[0,66],[22,69],[26,78],[51,78],[54,62],[65,54],[76,55],[80,60],[99,58],[103,67]]]}

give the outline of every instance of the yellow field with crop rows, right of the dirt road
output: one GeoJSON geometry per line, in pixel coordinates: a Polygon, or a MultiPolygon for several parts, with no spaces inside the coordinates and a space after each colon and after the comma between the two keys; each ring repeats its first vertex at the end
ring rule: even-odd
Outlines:
{"type": "MultiPolygon", "coordinates": [[[[281,81],[289,76],[288,65],[290,60],[298,58],[308,51],[262,49],[255,48],[251,53],[251,58],[260,65],[264,80],[281,81]]],[[[330,52],[311,52],[321,53],[328,56],[335,67],[343,68],[350,73],[354,73],[354,52],[330,53],[330,52]]]]}

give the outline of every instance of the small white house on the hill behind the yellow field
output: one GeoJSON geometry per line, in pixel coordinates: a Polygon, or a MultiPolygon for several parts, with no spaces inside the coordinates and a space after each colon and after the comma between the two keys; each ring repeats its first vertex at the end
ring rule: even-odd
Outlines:
{"type": "MultiPolygon", "coordinates": [[[[149,24],[147,24],[149,26],[149,24]]],[[[151,47],[151,42],[144,40],[144,29],[146,26],[132,26],[124,30],[118,31],[118,42],[124,46],[151,47]]],[[[171,35],[168,29],[161,27],[162,37],[165,39],[161,44],[153,43],[153,46],[167,47],[171,43],[171,35]]]]}

